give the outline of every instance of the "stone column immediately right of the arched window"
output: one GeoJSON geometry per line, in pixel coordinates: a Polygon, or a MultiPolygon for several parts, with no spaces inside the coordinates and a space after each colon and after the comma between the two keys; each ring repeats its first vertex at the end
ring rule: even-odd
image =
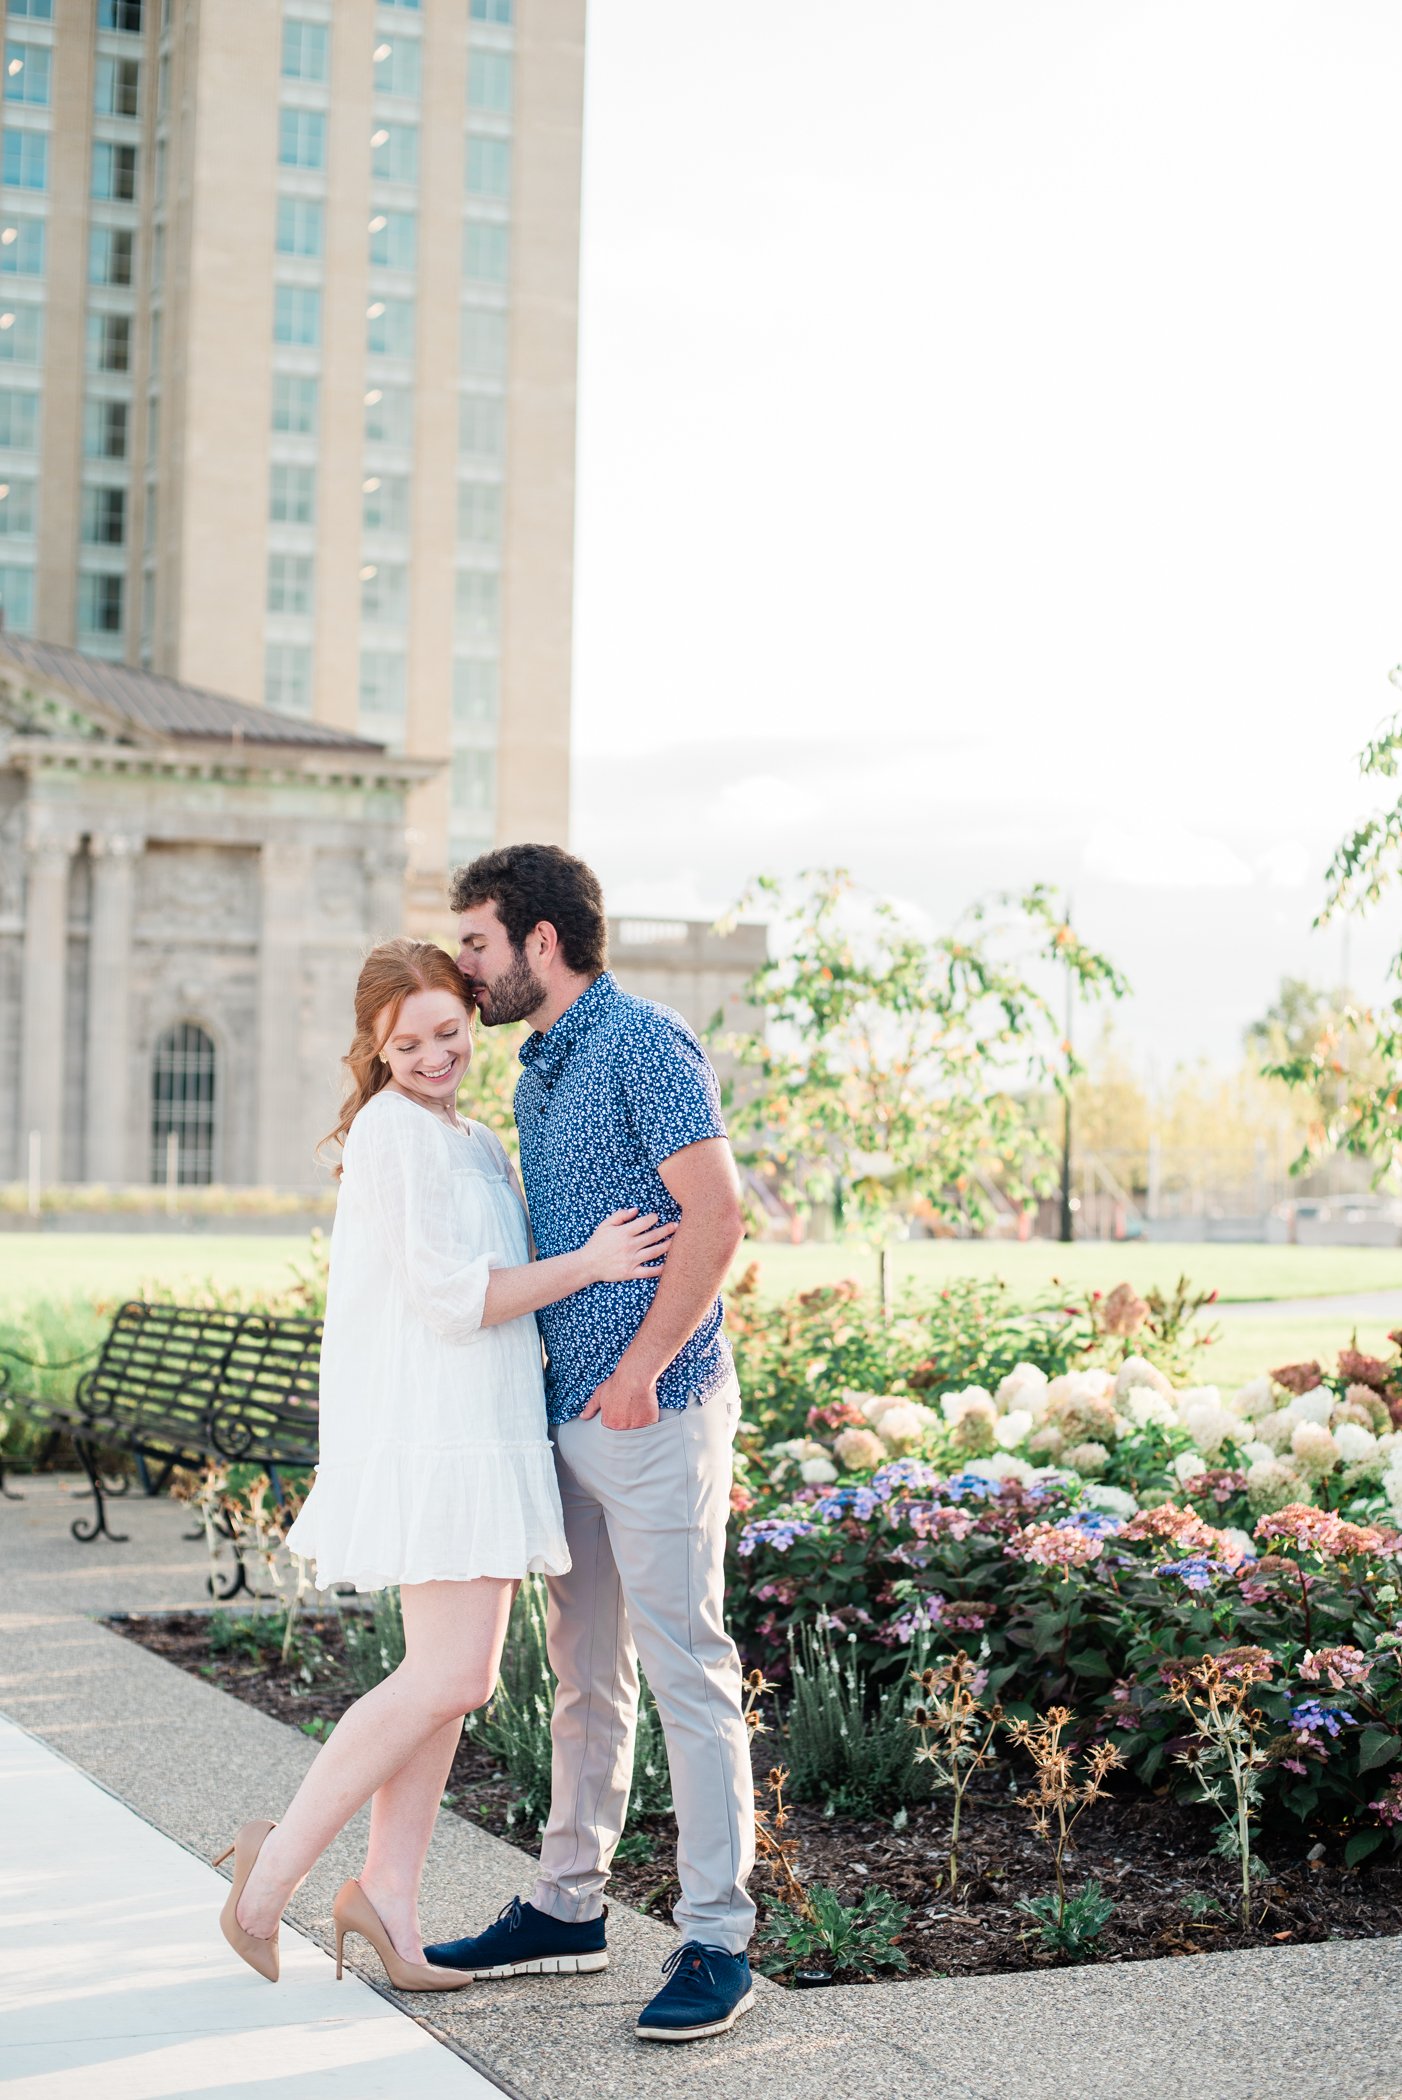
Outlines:
{"type": "Polygon", "coordinates": [[[250,1178],[260,1186],[300,1189],[315,1172],[302,1128],[302,941],[311,907],[311,850],[264,840],[260,876],[258,1136],[256,1174],[250,1178]]]}

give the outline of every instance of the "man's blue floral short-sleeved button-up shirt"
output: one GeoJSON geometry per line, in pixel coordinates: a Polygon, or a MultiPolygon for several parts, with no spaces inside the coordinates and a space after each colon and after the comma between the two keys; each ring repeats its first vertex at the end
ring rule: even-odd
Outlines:
{"type": "MultiPolygon", "coordinates": [[[[552,1029],[521,1048],[516,1130],[531,1231],[541,1256],[581,1247],[609,1212],[680,1218],[659,1166],[724,1138],[720,1086],[680,1014],[619,991],[604,970],[552,1029]]],[[[546,1340],[546,1405],[571,1422],[619,1359],[657,1283],[592,1283],[535,1317],[546,1340]]],[[[657,1382],[663,1407],[705,1399],[730,1376],[720,1298],[657,1382]]]]}

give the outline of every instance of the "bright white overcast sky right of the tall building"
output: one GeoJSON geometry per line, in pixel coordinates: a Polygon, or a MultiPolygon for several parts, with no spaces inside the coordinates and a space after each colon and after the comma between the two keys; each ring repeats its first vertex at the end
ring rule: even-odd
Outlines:
{"type": "MultiPolygon", "coordinates": [[[[590,0],[575,844],[1333,981],[1402,706],[1396,0],[590,0]]],[[[1385,928],[1352,937],[1373,989],[1385,928]]]]}

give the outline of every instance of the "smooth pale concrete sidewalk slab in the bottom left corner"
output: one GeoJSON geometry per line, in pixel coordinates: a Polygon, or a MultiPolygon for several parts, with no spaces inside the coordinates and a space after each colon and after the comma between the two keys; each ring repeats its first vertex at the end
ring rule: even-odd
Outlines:
{"type": "Polygon", "coordinates": [[[225,1882],[52,1749],[0,1720],[0,2085],[474,2100],[460,2056],[327,1953],[281,1934],[277,1987],[225,1945],[225,1882]]]}

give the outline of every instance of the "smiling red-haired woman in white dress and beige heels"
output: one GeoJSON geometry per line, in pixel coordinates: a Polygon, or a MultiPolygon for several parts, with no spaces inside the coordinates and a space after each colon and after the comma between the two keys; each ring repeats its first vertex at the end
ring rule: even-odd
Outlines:
{"type": "MultiPolygon", "coordinates": [[[[336,1896],[403,1991],[470,1978],[424,1961],[418,1890],[462,1735],[491,1697],[523,1575],[569,1567],[533,1312],[657,1273],[672,1226],[615,1212],[575,1254],[531,1260],[500,1140],[464,1124],[472,1006],[426,941],[384,941],[355,991],[350,1090],[327,1142],[342,1184],[321,1348],[317,1480],[288,1535],[317,1588],[399,1586],[405,1659],[340,1718],[281,1823],[246,1823],[229,1945],[277,1980],[277,1922],[367,1800],[369,1848],[336,1896]]],[[[220,1865],[216,1861],[216,1865],[220,1865]]]]}

